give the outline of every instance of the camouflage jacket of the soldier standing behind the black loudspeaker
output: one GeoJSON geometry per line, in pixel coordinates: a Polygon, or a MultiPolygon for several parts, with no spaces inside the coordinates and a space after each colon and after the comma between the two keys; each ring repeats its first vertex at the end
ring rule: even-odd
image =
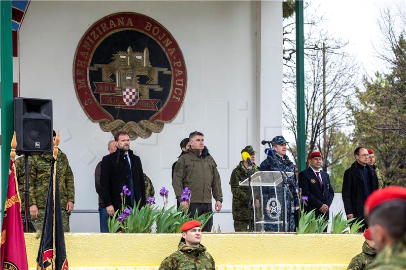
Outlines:
{"type": "MultiPolygon", "coordinates": [[[[75,202],[75,184],[71,166],[69,166],[66,155],[60,149],[56,162],[61,206],[64,207],[67,201],[75,202]]],[[[29,163],[29,205],[36,204],[38,208],[45,208],[52,156],[32,156],[29,163]]]]}

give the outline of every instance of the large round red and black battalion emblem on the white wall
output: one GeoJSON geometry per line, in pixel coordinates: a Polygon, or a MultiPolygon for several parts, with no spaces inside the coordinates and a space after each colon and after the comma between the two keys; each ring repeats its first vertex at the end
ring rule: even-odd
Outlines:
{"type": "Polygon", "coordinates": [[[186,66],[172,34],[154,19],[115,13],[93,23],[73,62],[76,95],[105,132],[134,140],[162,131],[186,93],[186,66]]]}

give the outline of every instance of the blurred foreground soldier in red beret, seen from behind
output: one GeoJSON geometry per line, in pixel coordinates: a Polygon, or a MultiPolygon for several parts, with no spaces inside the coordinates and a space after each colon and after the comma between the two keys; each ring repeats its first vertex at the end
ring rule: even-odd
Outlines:
{"type": "Polygon", "coordinates": [[[406,269],[406,188],[376,190],[365,202],[377,257],[367,269],[406,269]]]}

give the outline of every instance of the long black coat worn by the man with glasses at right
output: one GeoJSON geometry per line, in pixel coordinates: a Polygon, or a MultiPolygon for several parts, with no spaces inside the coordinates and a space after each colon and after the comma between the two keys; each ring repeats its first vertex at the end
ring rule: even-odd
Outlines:
{"type": "MultiPolygon", "coordinates": [[[[378,189],[378,177],[374,169],[369,166],[366,166],[366,169],[369,174],[369,187],[373,192],[378,189]]],[[[367,196],[356,161],[344,172],[342,196],[346,214],[354,214],[355,218],[364,219],[364,204],[367,196]]]]}

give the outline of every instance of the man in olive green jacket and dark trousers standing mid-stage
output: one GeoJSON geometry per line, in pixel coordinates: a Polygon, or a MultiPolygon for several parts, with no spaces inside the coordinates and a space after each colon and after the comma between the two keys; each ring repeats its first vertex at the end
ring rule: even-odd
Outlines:
{"type": "MultiPolygon", "coordinates": [[[[172,186],[175,190],[176,199],[180,204],[187,208],[189,205],[189,214],[194,216],[198,214],[211,213],[212,192],[216,200],[215,210],[221,210],[223,202],[223,193],[221,191],[221,180],[217,171],[217,164],[210,156],[209,150],[204,143],[204,135],[200,132],[192,132],[189,135],[190,148],[179,157],[174,170],[172,186]],[[188,187],[189,190],[184,189],[188,187]]],[[[203,232],[210,232],[213,226],[213,217],[206,223],[202,229],[203,232]]]]}

